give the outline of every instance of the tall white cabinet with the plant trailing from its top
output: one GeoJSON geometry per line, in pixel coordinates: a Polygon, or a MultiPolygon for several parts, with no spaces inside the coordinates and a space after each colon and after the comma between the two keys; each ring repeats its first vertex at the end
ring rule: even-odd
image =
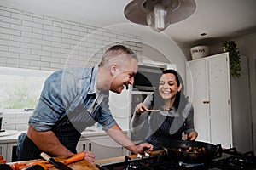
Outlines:
{"type": "Polygon", "coordinates": [[[187,63],[187,92],[195,109],[200,141],[252,150],[247,59],[241,57],[241,77],[230,77],[229,54],[187,63]]]}

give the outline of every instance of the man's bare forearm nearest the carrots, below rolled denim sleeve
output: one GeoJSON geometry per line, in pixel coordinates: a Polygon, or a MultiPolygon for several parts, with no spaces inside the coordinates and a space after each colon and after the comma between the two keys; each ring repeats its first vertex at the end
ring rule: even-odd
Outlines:
{"type": "Polygon", "coordinates": [[[38,132],[29,127],[27,137],[31,139],[40,150],[47,152],[50,156],[71,156],[73,153],[61,144],[52,131],[38,132]]]}

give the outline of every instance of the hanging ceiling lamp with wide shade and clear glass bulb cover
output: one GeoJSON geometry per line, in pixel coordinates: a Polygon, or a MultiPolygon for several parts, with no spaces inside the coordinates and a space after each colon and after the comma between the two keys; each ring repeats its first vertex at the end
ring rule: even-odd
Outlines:
{"type": "Polygon", "coordinates": [[[131,22],[163,31],[194,12],[194,0],[133,0],[125,7],[124,14],[131,22]]]}

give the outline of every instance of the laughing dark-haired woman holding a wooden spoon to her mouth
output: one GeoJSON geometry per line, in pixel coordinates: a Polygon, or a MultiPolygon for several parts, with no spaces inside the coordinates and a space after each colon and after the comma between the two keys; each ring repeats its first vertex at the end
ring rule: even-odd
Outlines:
{"type": "Polygon", "coordinates": [[[135,111],[131,132],[138,135],[143,127],[148,127],[145,141],[153,144],[154,150],[168,147],[168,141],[173,139],[197,138],[194,109],[183,94],[183,82],[177,71],[163,71],[158,90],[138,104],[135,111]]]}

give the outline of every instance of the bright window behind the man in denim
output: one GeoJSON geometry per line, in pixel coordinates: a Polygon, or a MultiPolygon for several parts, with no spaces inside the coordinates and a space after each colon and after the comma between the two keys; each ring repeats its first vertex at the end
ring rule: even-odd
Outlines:
{"type": "Polygon", "coordinates": [[[34,109],[52,71],[0,67],[0,109],[34,109]]]}

